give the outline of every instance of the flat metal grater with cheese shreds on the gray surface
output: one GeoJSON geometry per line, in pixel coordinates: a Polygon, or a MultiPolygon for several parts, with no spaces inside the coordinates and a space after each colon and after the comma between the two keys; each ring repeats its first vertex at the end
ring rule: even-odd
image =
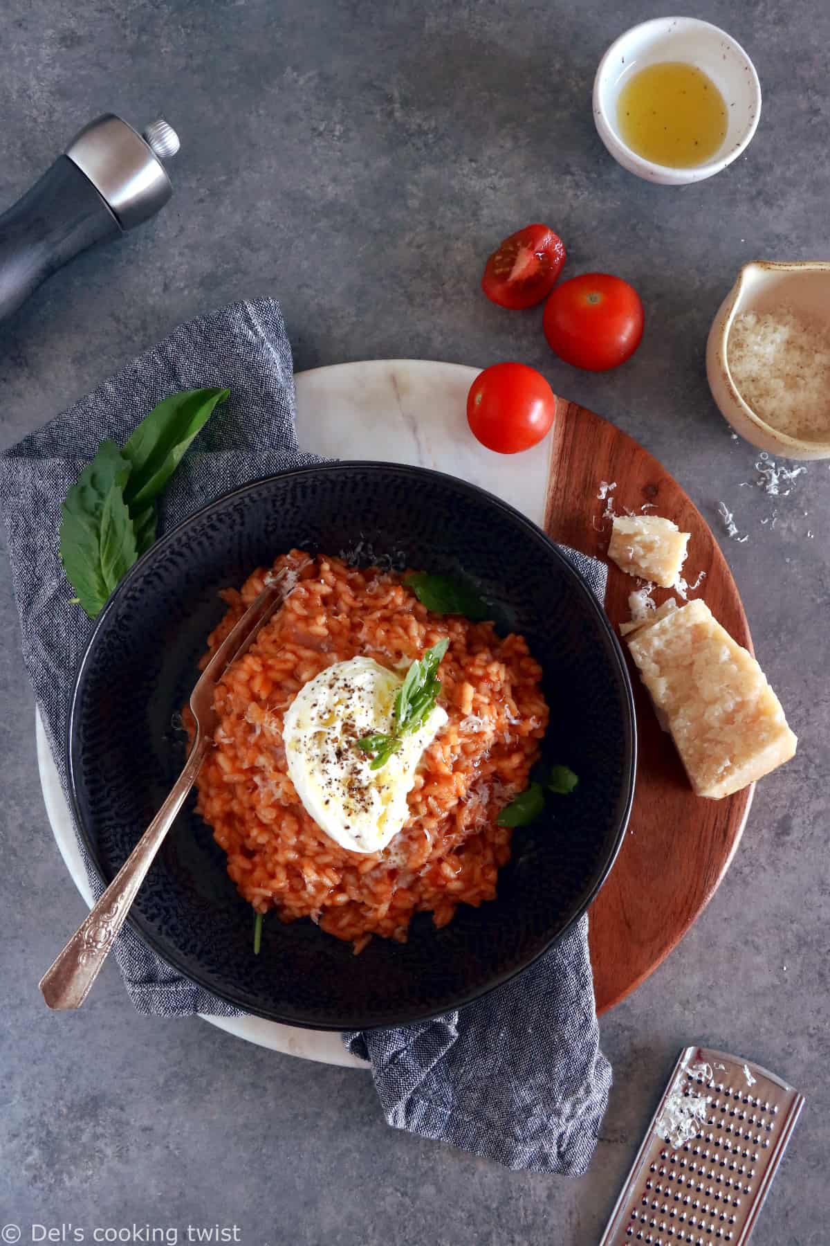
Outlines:
{"type": "Polygon", "coordinates": [[[803,1106],[758,1064],[684,1048],[600,1246],[748,1242],[803,1106]]]}

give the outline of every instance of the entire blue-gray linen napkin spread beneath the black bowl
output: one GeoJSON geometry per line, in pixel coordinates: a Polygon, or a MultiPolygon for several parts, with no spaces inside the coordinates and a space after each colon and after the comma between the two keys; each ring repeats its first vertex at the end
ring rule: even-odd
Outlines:
{"type": "MultiPolygon", "coordinates": [[[[65,787],[68,697],[92,624],[68,604],[57,553],[60,503],[103,437],[121,444],[168,394],[210,385],[229,388],[230,400],[173,476],[159,532],[248,480],[320,462],[297,446],[291,348],[279,304],[270,299],[236,303],[179,326],[0,455],[0,505],[24,660],[65,787]]],[[[605,566],[564,552],[602,599],[605,566]]],[[[103,883],[86,855],[85,861],[98,896],[103,883]]],[[[114,954],[139,1012],[240,1015],[170,968],[129,927],[114,954]]],[[[383,1113],[394,1128],[510,1168],[570,1175],[586,1170],[611,1085],[599,1050],[587,917],[520,979],[460,1013],[343,1038],[371,1062],[383,1113]]]]}

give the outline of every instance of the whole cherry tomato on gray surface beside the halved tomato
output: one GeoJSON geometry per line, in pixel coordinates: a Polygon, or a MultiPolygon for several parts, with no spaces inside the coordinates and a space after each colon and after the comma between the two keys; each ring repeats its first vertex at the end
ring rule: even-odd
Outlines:
{"type": "Polygon", "coordinates": [[[566,364],[604,373],[630,359],[642,338],[640,295],[620,277],[571,277],[545,304],[548,345],[566,364]]]}

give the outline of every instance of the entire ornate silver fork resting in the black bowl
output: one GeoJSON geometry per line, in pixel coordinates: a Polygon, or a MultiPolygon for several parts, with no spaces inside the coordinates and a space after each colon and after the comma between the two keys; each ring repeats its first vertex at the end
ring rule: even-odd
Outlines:
{"type": "Polygon", "coordinates": [[[296,572],[301,569],[284,568],[266,583],[205,667],[190,694],[195,736],[184,769],[101,900],[40,979],[40,989],[50,1008],[80,1008],[90,993],[101,966],[124,925],[138,888],[147,877],[164,836],[213,746],[213,733],[217,729],[217,711],[213,708],[214,688],[231,662],[241,658],[263,624],[268,623],[282,604],[296,582],[294,578],[296,572]]]}

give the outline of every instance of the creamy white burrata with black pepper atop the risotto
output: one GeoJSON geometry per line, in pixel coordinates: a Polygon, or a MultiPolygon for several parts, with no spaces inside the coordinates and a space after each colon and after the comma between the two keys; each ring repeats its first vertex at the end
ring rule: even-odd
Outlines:
{"type": "Polygon", "coordinates": [[[401,750],[372,770],[357,740],[392,733],[402,682],[373,658],[337,662],[304,684],[285,714],[282,740],[296,794],[317,826],[351,852],[378,852],[398,834],[423,750],[447,723],[436,705],[421,730],[404,735],[401,750]]]}

